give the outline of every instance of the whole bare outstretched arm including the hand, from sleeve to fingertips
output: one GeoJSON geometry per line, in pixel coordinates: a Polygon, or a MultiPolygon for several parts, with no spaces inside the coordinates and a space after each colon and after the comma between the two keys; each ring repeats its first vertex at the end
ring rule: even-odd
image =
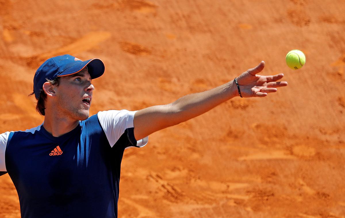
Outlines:
{"type": "MultiPolygon", "coordinates": [[[[257,75],[264,66],[265,62],[262,61],[236,78],[243,97],[265,97],[267,93],[276,92],[277,87],[287,86],[287,82],[276,82],[283,78],[282,73],[274,76],[257,75]]],[[[197,117],[236,96],[239,96],[238,89],[232,80],[214,89],[184,96],[168,105],[139,110],[134,116],[134,136],[136,139],[144,138],[158,130],[197,117]]]]}

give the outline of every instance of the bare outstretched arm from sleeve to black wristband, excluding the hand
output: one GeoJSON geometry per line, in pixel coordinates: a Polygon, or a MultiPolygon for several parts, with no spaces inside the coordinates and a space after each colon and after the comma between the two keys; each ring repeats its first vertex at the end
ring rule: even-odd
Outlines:
{"type": "Polygon", "coordinates": [[[144,138],[158,130],[197,117],[235,96],[238,96],[238,91],[232,81],[208,91],[181,97],[168,105],[139,110],[134,117],[134,135],[136,139],[144,138]]]}

